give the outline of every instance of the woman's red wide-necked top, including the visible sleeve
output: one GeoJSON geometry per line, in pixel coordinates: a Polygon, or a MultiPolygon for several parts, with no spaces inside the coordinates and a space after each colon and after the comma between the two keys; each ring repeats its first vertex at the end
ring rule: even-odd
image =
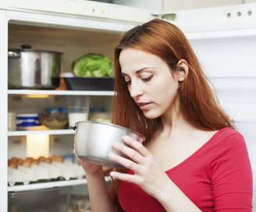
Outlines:
{"type": "MultiPolygon", "coordinates": [[[[251,164],[244,137],[234,129],[219,130],[194,154],[165,172],[202,211],[252,211],[251,164]]],[[[118,199],[127,212],[165,211],[130,182],[120,183],[118,199]]]]}

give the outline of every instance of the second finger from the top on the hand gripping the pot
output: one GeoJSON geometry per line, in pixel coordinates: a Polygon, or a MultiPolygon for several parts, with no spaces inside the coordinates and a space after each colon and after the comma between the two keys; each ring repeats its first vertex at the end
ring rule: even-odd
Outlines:
{"type": "Polygon", "coordinates": [[[129,157],[134,162],[137,162],[138,164],[143,164],[144,157],[139,154],[136,150],[133,150],[130,147],[127,147],[123,143],[113,143],[112,145],[113,149],[118,150],[119,152],[123,153],[127,157],[129,157]]]}

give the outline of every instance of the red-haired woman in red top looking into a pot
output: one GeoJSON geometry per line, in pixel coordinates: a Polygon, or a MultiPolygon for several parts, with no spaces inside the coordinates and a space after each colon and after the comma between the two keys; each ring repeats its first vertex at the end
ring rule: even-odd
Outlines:
{"type": "MultiPolygon", "coordinates": [[[[151,20],[116,47],[113,122],[146,136],[115,143],[129,171],[110,174],[125,211],[251,211],[243,136],[219,107],[194,51],[171,23],[151,20]]],[[[80,163],[93,211],[116,211],[100,166],[80,163]]]]}

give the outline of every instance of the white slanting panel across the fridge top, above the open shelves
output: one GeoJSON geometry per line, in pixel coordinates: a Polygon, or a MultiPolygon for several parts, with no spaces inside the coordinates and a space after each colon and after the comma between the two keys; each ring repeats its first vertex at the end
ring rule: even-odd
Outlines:
{"type": "Polygon", "coordinates": [[[151,12],[130,6],[84,0],[9,0],[0,2],[0,9],[55,13],[59,16],[82,16],[88,19],[108,19],[144,23],[153,18],[151,12]]]}

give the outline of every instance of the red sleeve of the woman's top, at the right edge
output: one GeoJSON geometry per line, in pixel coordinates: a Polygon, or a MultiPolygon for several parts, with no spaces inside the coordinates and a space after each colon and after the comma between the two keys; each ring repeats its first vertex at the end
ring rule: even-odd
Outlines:
{"type": "Polygon", "coordinates": [[[215,211],[251,212],[252,171],[244,137],[236,132],[219,148],[212,158],[215,211]]]}

